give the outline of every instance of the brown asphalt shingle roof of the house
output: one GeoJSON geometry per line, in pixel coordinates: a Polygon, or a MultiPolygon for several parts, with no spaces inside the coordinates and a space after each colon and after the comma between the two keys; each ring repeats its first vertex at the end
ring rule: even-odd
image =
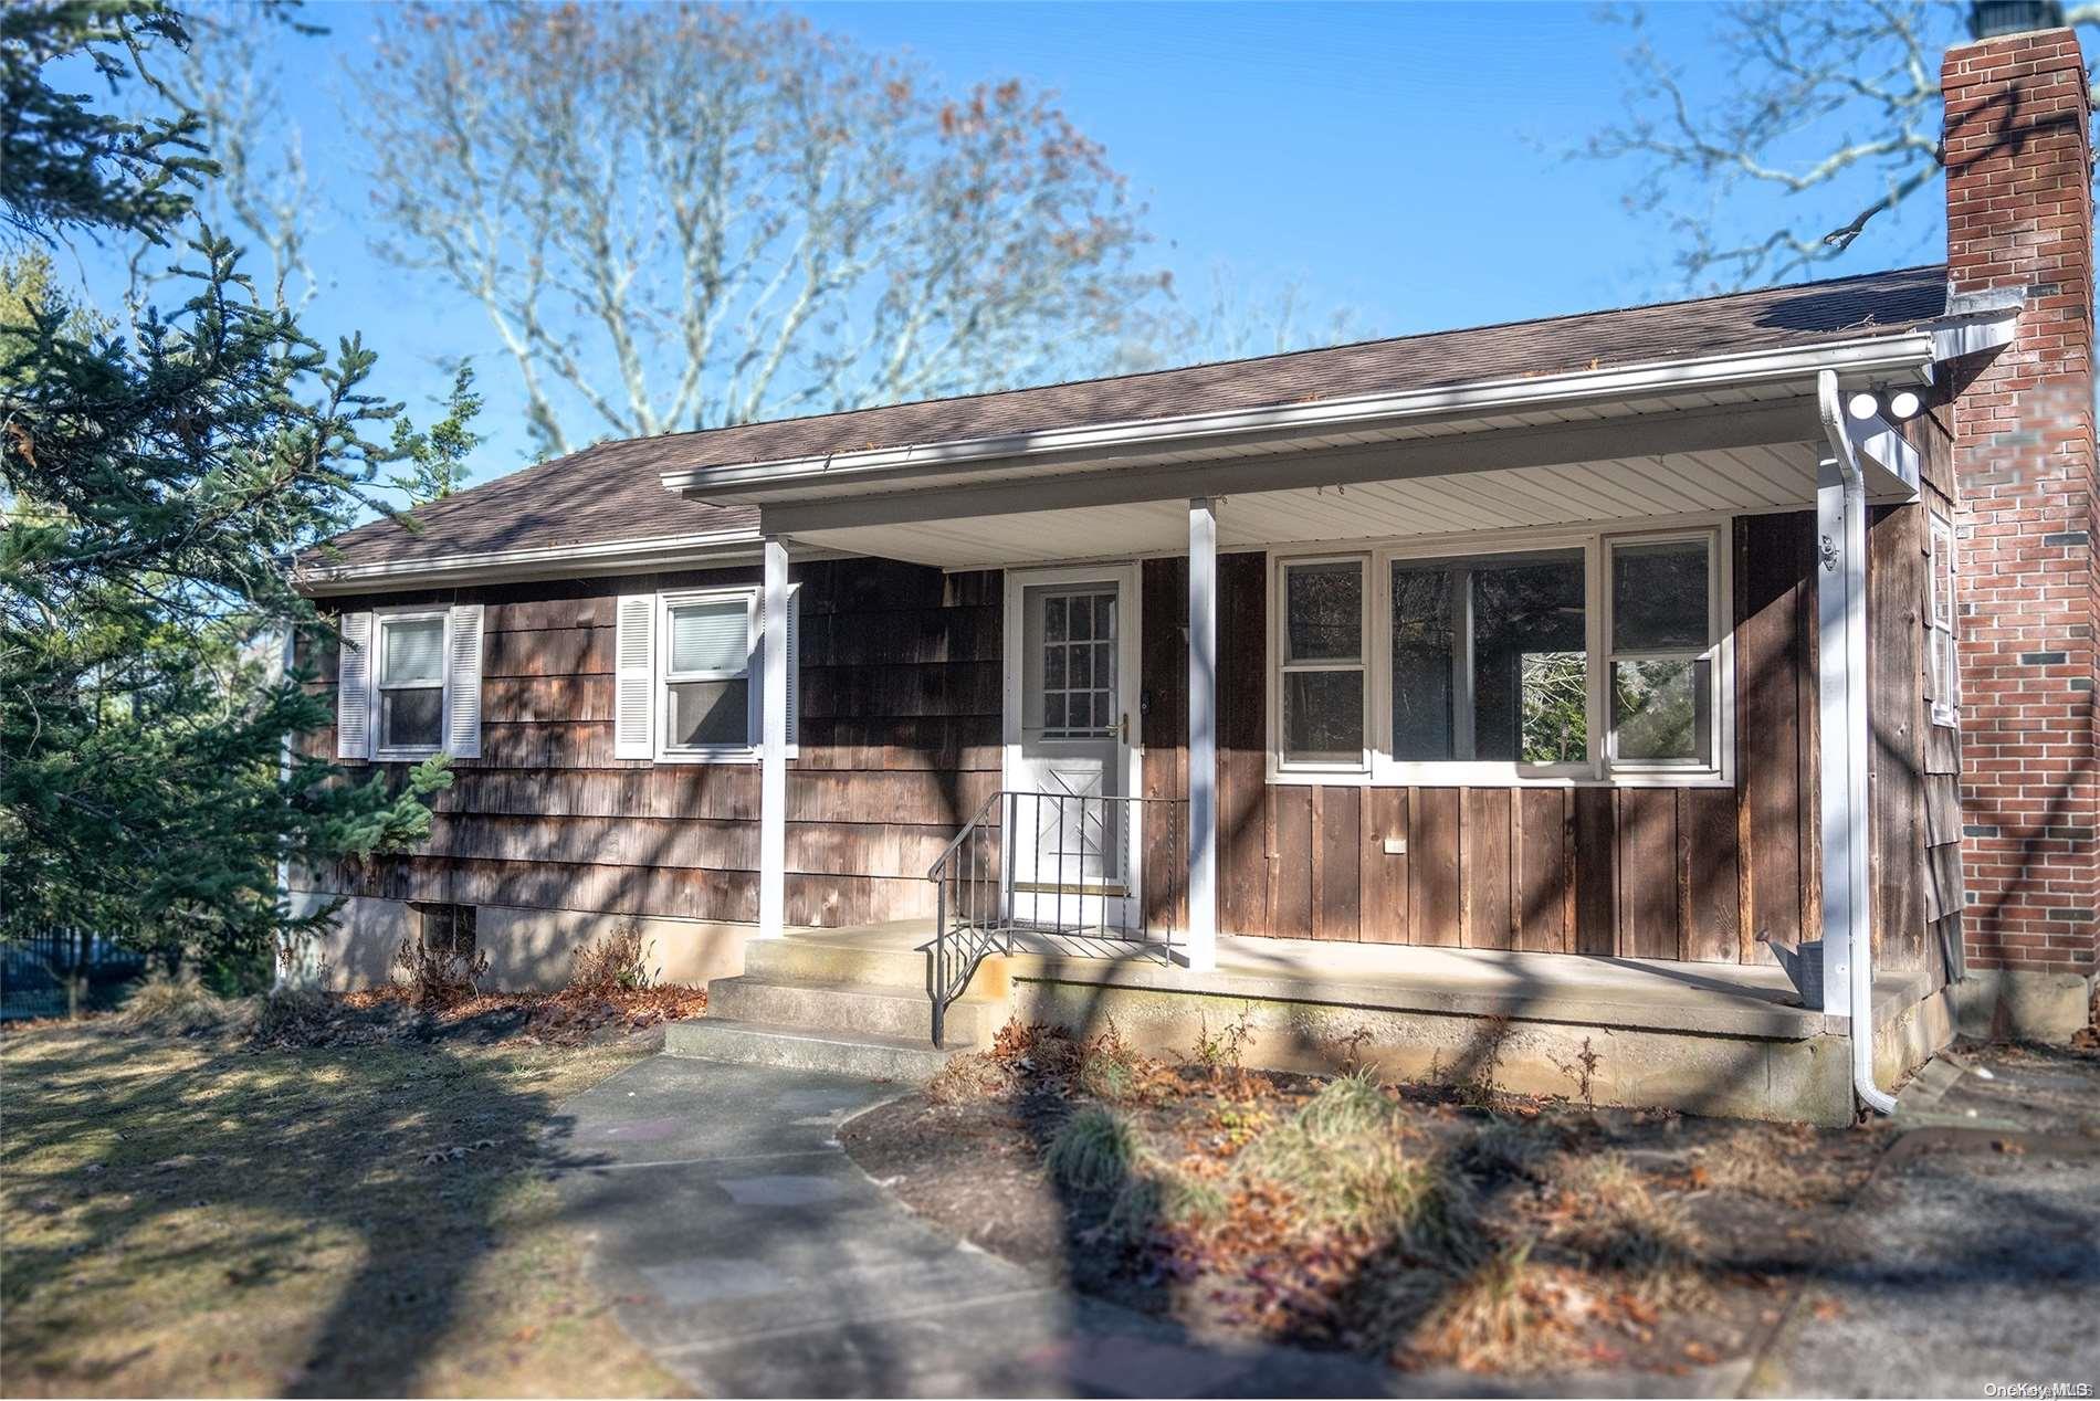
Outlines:
{"type": "Polygon", "coordinates": [[[1092,422],[1176,418],[1522,378],[1586,368],[1779,349],[1888,332],[1940,315],[1947,269],[1917,267],[1661,307],[1483,326],[1323,351],[1189,365],[1109,380],[737,424],[601,443],[418,510],[422,531],[376,521],[313,563],[439,561],[449,555],[748,529],[750,508],[672,496],[657,473],[811,458],[1092,422]]]}

